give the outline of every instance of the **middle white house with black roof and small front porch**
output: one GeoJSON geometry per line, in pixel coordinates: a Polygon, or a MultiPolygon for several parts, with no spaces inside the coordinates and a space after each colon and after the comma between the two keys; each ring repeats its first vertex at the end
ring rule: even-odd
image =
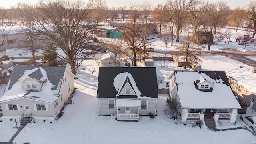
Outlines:
{"type": "Polygon", "coordinates": [[[139,120],[156,115],[158,88],[155,67],[100,67],[99,115],[116,120],[139,120]]]}

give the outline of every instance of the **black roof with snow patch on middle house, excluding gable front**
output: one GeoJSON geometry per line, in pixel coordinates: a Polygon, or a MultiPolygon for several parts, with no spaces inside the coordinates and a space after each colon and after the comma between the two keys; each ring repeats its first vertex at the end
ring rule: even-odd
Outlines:
{"type": "MultiPolygon", "coordinates": [[[[134,92],[140,97],[158,98],[155,67],[100,67],[98,76],[98,98],[116,98],[126,78],[129,78],[134,92]]],[[[137,98],[119,95],[118,98],[137,98]]]]}

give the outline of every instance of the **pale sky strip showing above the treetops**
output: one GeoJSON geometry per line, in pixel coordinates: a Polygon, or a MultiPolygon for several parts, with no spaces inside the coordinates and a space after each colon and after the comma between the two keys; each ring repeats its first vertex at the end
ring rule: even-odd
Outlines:
{"type": "MultiPolygon", "coordinates": [[[[5,8],[9,8],[10,6],[14,6],[15,4],[21,2],[21,3],[31,3],[31,4],[35,4],[36,2],[38,2],[39,0],[1,0],[1,4],[0,6],[5,7],[5,8]]],[[[85,2],[88,2],[88,0],[82,0],[85,2]]],[[[120,7],[120,6],[126,6],[129,7],[130,3],[142,3],[144,0],[106,0],[107,5],[109,8],[112,7],[120,7]]],[[[151,4],[153,5],[152,9],[154,9],[154,7],[157,4],[163,4],[166,2],[166,0],[147,0],[148,2],[151,2],[151,4]]],[[[204,0],[206,1],[206,0],[204,0]]],[[[210,2],[218,2],[221,0],[209,0],[210,2]]],[[[246,5],[248,5],[250,3],[250,1],[253,0],[222,0],[224,2],[226,2],[231,9],[236,8],[237,6],[240,7],[245,7],[246,5]]]]}

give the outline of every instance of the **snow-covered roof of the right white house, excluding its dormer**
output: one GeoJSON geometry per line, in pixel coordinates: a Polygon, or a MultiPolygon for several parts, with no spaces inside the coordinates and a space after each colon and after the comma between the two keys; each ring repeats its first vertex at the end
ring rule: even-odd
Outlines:
{"type": "Polygon", "coordinates": [[[224,71],[174,71],[174,75],[182,108],[241,108],[224,71]],[[212,92],[196,89],[194,80],[200,76],[212,81],[212,92]]]}

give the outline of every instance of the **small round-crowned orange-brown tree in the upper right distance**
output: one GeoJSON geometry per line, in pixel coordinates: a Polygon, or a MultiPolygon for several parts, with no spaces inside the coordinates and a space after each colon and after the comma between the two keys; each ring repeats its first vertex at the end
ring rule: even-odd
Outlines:
{"type": "Polygon", "coordinates": [[[232,10],[232,13],[228,16],[228,25],[236,27],[236,32],[238,27],[240,27],[240,24],[243,20],[245,20],[246,17],[246,11],[242,8],[235,8],[232,10]]]}

